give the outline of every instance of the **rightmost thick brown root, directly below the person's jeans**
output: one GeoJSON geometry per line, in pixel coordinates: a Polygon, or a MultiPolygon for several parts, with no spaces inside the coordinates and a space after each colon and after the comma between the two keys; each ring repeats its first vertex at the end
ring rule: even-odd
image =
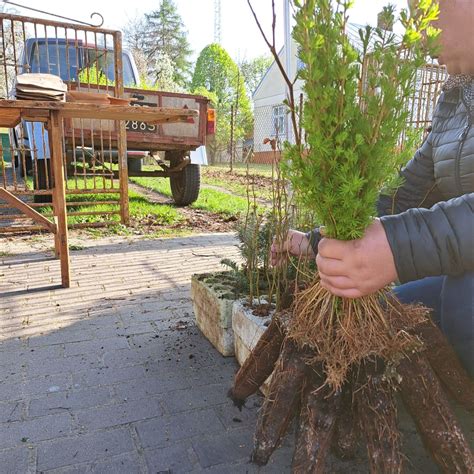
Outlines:
{"type": "Polygon", "coordinates": [[[430,320],[414,331],[424,342],[424,355],[447,391],[466,410],[474,411],[474,380],[464,370],[443,333],[430,320]]]}

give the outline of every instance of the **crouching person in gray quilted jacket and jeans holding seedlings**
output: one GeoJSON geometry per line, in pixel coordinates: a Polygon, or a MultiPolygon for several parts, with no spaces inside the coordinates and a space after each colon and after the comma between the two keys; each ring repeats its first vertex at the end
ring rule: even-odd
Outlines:
{"type": "Polygon", "coordinates": [[[346,298],[400,282],[398,298],[432,309],[474,375],[474,1],[441,0],[437,23],[449,78],[401,187],[379,197],[379,218],[361,239],[290,230],[272,245],[271,260],[315,257],[322,285],[346,298]]]}

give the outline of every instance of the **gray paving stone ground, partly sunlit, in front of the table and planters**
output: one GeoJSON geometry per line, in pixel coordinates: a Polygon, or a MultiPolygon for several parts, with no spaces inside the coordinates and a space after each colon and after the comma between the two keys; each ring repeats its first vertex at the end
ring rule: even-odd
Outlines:
{"type": "Polygon", "coordinates": [[[45,239],[0,240],[0,474],[290,472],[291,437],[248,463],[261,398],[232,406],[236,362],[194,324],[190,277],[238,258],[232,235],[80,241],[70,289],[45,239]]]}

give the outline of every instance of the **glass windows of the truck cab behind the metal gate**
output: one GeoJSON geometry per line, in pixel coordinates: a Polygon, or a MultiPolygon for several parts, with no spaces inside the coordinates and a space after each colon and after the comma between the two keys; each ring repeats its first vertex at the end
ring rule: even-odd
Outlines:
{"type": "MultiPolygon", "coordinates": [[[[34,40],[29,59],[28,72],[54,74],[63,81],[79,79],[111,85],[115,80],[114,53],[110,49],[90,48],[75,41],[68,41],[66,45],[65,39],[48,40],[47,44],[44,40],[34,40]],[[105,76],[107,81],[102,81],[101,76],[105,76]]],[[[135,85],[132,64],[125,52],[122,53],[122,63],[124,85],[135,85]]]]}

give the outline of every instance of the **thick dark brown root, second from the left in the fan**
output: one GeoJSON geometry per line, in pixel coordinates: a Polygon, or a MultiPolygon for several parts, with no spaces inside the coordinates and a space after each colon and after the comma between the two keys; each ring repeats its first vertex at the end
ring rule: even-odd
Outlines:
{"type": "Polygon", "coordinates": [[[270,393],[257,421],[252,462],[258,465],[268,462],[299,409],[307,374],[305,356],[296,350],[292,341],[285,340],[270,384],[270,393]]]}

